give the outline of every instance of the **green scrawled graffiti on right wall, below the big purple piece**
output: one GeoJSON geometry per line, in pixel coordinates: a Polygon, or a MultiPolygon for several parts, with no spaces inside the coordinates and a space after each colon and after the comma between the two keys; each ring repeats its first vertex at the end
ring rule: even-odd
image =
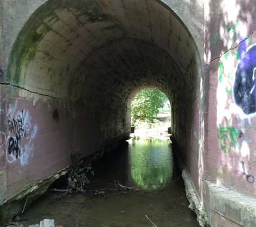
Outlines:
{"type": "Polygon", "coordinates": [[[220,147],[224,153],[230,153],[231,147],[237,143],[236,138],[243,135],[243,132],[240,130],[237,132],[234,127],[231,127],[231,120],[224,119],[224,126],[218,124],[218,138],[220,147]]]}

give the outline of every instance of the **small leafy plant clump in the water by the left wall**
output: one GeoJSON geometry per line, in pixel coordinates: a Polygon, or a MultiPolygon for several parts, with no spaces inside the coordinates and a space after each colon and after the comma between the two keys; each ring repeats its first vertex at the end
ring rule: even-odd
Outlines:
{"type": "Polygon", "coordinates": [[[89,164],[89,166],[86,166],[84,168],[79,168],[79,161],[78,157],[81,154],[75,153],[71,154],[71,164],[70,164],[70,173],[68,175],[67,183],[68,187],[70,188],[70,191],[73,189],[81,192],[85,191],[85,187],[90,183],[87,179],[86,173],[91,172],[92,175],[94,175],[94,172],[92,171],[92,166],[89,164]]]}

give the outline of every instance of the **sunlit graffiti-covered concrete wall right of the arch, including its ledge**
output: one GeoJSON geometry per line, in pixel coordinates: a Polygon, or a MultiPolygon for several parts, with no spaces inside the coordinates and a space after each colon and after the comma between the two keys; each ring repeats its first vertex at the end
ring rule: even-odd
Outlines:
{"type": "Polygon", "coordinates": [[[214,226],[255,226],[255,1],[205,2],[205,208],[214,226]]]}

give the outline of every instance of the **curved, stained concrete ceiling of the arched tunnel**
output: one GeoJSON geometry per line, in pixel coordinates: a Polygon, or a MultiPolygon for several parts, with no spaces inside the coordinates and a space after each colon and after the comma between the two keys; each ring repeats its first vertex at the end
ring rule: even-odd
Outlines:
{"type": "Polygon", "coordinates": [[[65,100],[123,106],[146,88],[171,100],[184,96],[195,89],[197,59],[184,25],[155,0],[49,0],[16,39],[6,81],[65,100]]]}

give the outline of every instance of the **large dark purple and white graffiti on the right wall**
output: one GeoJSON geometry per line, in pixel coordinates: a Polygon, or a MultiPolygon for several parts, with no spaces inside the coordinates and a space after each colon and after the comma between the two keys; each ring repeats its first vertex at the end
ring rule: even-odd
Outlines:
{"type": "Polygon", "coordinates": [[[246,115],[256,113],[256,45],[246,36],[245,25],[238,22],[233,26],[226,25],[224,29],[233,44],[236,39],[240,44],[236,52],[229,51],[222,56],[218,69],[219,84],[226,93],[233,95],[236,105],[246,115]]]}

